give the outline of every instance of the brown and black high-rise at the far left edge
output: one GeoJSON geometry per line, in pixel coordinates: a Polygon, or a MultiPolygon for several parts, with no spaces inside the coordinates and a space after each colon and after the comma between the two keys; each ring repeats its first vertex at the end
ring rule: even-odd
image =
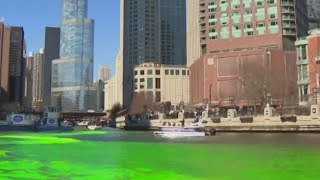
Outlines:
{"type": "Polygon", "coordinates": [[[2,95],[7,102],[22,105],[24,31],[22,27],[5,27],[1,60],[2,95]]]}

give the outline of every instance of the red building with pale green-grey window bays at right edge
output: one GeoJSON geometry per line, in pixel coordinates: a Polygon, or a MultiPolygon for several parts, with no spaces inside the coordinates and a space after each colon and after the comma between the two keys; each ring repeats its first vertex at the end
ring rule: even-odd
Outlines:
{"type": "Polygon", "coordinates": [[[296,41],[299,104],[320,103],[320,29],[296,41]]]}

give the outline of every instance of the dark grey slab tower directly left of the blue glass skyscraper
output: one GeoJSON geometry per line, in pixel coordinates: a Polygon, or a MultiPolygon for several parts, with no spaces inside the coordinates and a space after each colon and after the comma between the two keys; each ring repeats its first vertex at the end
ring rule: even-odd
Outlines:
{"type": "Polygon", "coordinates": [[[51,105],[51,69],[52,61],[59,59],[60,52],[60,28],[46,27],[45,29],[45,46],[44,46],[44,90],[43,105],[48,107],[51,105]]]}

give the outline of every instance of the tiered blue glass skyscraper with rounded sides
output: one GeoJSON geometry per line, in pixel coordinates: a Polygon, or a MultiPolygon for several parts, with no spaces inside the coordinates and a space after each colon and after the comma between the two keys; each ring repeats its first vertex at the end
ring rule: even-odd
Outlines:
{"type": "Polygon", "coordinates": [[[62,0],[60,59],[52,62],[52,105],[62,111],[96,109],[93,86],[94,21],[88,0],[62,0]]]}

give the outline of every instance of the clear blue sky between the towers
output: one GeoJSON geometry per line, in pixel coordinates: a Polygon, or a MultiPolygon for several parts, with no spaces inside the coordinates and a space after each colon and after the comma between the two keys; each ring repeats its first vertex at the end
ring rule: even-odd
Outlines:
{"type": "MultiPolygon", "coordinates": [[[[61,0],[0,0],[0,18],[5,26],[22,26],[27,52],[44,47],[45,27],[59,27],[61,0]]],[[[119,49],[120,1],[89,0],[88,17],[95,20],[94,77],[99,65],[108,65],[114,74],[119,49]]]]}

